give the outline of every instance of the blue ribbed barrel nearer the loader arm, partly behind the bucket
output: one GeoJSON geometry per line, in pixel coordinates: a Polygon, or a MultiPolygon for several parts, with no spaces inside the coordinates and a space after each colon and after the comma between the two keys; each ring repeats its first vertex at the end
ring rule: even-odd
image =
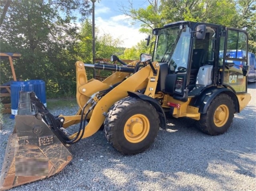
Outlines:
{"type": "Polygon", "coordinates": [[[34,93],[37,98],[46,106],[45,82],[43,80],[29,80],[34,85],[34,93]]]}

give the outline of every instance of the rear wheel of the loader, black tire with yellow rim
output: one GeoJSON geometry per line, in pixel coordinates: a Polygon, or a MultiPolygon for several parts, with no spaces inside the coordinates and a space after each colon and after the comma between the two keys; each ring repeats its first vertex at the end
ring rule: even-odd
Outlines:
{"type": "Polygon", "coordinates": [[[209,135],[223,134],[234,118],[234,102],[226,94],[220,94],[212,100],[206,114],[201,114],[197,127],[209,135]]]}

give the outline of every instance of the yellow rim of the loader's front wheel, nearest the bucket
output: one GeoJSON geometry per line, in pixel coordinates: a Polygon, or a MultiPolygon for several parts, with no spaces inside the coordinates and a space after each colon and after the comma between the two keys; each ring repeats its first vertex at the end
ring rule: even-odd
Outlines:
{"type": "Polygon", "coordinates": [[[148,118],[142,114],[135,114],[126,121],[123,133],[126,140],[131,143],[138,143],[147,137],[149,129],[148,118]]]}

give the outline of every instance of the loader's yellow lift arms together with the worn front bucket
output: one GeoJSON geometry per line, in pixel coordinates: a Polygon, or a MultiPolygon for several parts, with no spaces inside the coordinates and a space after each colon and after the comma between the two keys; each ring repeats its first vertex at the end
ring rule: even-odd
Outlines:
{"type": "MultiPolygon", "coordinates": [[[[34,93],[24,92],[24,96],[20,96],[21,98],[24,97],[22,98],[24,100],[20,100],[19,114],[15,117],[15,130],[10,136],[6,148],[4,169],[2,169],[0,177],[0,189],[10,189],[61,171],[72,159],[72,154],[67,146],[95,134],[103,124],[109,108],[115,102],[129,96],[128,92],[145,89],[144,94],[153,99],[159,65],[157,62],[153,62],[151,65],[144,64],[145,67],[135,72],[137,63],[139,61],[133,61],[128,66],[113,66],[88,65],[78,61],[76,63],[76,96],[79,110],[74,116],[53,116],[34,96],[34,93]],[[87,80],[85,67],[88,66],[117,70],[117,72],[102,82],[95,79],[87,80]],[[157,72],[156,74],[152,70],[152,66],[157,72]],[[85,125],[87,119],[89,122],[85,125]],[[79,130],[69,136],[64,128],[78,123],[80,123],[79,130]],[[62,152],[60,153],[59,150],[62,152]],[[16,169],[31,168],[30,163],[23,161],[31,160],[32,163],[39,163],[42,158],[44,159],[43,163],[48,167],[44,167],[45,173],[29,174],[26,171],[16,173],[16,169]]],[[[143,120],[139,122],[146,121],[143,117],[143,120]]],[[[139,123],[130,124],[134,127],[139,125],[139,123]]],[[[143,136],[147,136],[147,134],[143,134],[143,136]]],[[[146,147],[140,149],[140,152],[145,149],[146,147]]]]}

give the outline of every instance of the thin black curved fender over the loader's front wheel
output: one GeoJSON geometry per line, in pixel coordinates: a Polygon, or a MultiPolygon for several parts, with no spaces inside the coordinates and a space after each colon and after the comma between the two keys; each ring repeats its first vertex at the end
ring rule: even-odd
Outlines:
{"type": "Polygon", "coordinates": [[[160,127],[163,128],[163,129],[166,128],[165,112],[163,111],[163,108],[157,102],[157,100],[155,100],[154,98],[151,98],[151,97],[149,97],[147,95],[144,95],[142,93],[138,93],[138,92],[127,92],[127,93],[131,97],[140,98],[140,99],[142,99],[144,101],[149,102],[151,105],[153,105],[155,107],[155,109],[157,110],[158,114],[159,114],[160,127]]]}

